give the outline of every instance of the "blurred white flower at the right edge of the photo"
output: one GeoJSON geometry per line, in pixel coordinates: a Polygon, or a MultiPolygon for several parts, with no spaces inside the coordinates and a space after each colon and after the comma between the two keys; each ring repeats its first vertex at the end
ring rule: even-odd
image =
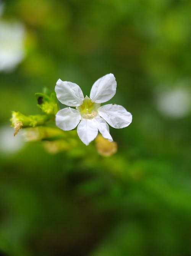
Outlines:
{"type": "Polygon", "coordinates": [[[183,87],[165,89],[158,93],[156,103],[165,116],[181,118],[191,111],[191,92],[183,87]]]}

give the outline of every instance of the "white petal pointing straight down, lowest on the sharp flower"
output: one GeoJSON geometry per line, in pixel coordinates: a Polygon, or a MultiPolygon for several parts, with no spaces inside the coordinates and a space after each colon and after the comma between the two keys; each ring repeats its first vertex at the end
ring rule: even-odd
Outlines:
{"type": "Polygon", "coordinates": [[[81,141],[88,145],[98,134],[97,122],[94,119],[82,119],[77,127],[77,133],[81,141]]]}

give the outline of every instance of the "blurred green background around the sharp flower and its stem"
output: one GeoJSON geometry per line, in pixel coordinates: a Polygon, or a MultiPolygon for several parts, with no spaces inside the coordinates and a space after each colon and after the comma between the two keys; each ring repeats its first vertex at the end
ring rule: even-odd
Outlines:
{"type": "MultiPolygon", "coordinates": [[[[0,255],[191,255],[191,2],[0,2],[0,255]],[[58,78],[133,114],[117,154],[48,153],[13,137],[11,111],[58,78]]],[[[84,148],[83,148],[84,149],[84,148]]]]}

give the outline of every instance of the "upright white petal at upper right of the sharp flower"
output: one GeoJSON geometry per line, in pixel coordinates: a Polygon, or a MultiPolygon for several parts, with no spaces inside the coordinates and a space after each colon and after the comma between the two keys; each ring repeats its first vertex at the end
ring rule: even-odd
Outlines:
{"type": "Polygon", "coordinates": [[[96,103],[106,102],[115,95],[116,86],[115,76],[107,74],[95,81],[90,92],[90,99],[96,103]]]}

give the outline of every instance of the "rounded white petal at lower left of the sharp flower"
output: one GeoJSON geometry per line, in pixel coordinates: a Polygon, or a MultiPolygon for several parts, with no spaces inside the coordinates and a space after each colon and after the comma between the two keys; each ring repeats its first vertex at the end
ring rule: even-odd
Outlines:
{"type": "Polygon", "coordinates": [[[66,107],[56,114],[56,125],[62,130],[73,130],[79,123],[81,115],[76,109],[66,107]]]}

